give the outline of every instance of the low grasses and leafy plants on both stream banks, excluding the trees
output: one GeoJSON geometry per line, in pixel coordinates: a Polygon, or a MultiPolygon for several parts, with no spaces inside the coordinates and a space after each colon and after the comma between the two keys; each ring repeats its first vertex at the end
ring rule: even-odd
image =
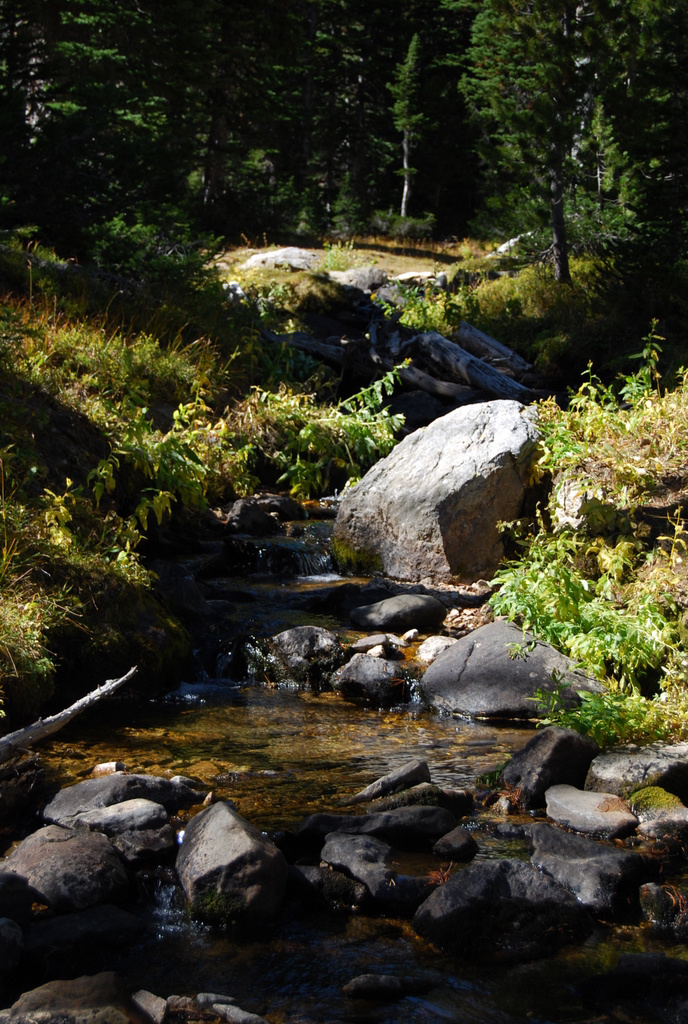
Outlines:
{"type": "MultiPolygon", "coordinates": [[[[261,338],[265,324],[298,327],[306,274],[281,286],[274,271],[271,289],[247,275],[240,306],[209,273],[178,306],[116,294],[96,312],[97,281],[64,288],[58,261],[45,254],[30,271],[25,254],[2,254],[14,280],[0,322],[1,681],[15,718],[49,701],[66,669],[119,671],[129,641],[143,645],[139,660],[147,642],[160,669],[141,626],[152,615],[178,657],[183,629],[148,601],[161,527],[259,484],[320,496],[388,451],[400,425],[384,406],[394,375],[338,399],[324,367],[261,338]]],[[[493,330],[514,318],[518,290],[520,332],[529,323],[542,337],[547,322],[563,336],[577,298],[548,307],[547,271],[511,273],[455,294],[418,289],[402,321],[450,333],[472,314],[493,330]]],[[[583,313],[580,300],[579,325],[583,313]]],[[[664,386],[663,341],[653,324],[624,375],[604,383],[590,370],[565,410],[541,402],[539,472],[553,498],[505,524],[514,558],[494,581],[497,613],[607,682],[580,713],[547,709],[605,741],[683,736],[688,712],[688,392],[680,375],[664,386]],[[567,522],[557,501],[571,488],[567,522]]]]}

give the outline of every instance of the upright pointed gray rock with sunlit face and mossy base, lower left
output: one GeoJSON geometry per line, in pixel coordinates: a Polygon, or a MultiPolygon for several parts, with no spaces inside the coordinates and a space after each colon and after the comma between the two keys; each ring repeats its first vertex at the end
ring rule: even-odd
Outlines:
{"type": "Polygon", "coordinates": [[[219,802],[188,822],[177,873],[198,916],[258,924],[282,905],[287,861],[262,833],[219,802]]]}

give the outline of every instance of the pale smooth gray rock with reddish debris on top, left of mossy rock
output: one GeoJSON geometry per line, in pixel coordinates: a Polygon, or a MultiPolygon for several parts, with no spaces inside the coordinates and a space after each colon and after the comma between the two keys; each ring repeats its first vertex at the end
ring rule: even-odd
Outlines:
{"type": "Polygon", "coordinates": [[[547,813],[557,824],[597,839],[626,839],[638,818],[611,793],[587,793],[573,785],[553,785],[545,794],[547,813]]]}

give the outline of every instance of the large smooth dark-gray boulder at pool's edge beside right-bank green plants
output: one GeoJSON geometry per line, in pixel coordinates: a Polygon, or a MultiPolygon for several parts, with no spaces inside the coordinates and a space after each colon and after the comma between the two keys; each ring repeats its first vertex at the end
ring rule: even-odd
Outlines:
{"type": "Polygon", "coordinates": [[[543,715],[535,691],[561,684],[568,688],[571,707],[580,702],[577,690],[602,690],[554,647],[498,621],[462,637],[435,658],[419,688],[425,702],[438,711],[470,718],[533,719],[543,715]]]}

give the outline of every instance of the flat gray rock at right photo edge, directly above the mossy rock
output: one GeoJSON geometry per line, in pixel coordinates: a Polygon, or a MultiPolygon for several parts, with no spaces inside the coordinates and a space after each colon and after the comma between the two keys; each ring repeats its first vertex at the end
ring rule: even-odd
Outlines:
{"type": "Polygon", "coordinates": [[[630,797],[641,786],[658,785],[688,804],[688,743],[621,746],[595,758],[586,790],[630,797]]]}

